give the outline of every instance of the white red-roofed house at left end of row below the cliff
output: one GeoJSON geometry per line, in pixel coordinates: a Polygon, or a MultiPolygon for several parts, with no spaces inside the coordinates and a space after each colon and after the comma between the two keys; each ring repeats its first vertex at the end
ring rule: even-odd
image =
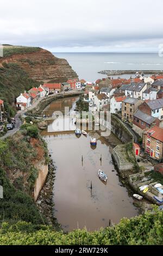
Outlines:
{"type": "Polygon", "coordinates": [[[31,96],[26,92],[21,93],[20,96],[16,98],[16,107],[17,109],[24,110],[29,108],[32,105],[31,96]]]}

